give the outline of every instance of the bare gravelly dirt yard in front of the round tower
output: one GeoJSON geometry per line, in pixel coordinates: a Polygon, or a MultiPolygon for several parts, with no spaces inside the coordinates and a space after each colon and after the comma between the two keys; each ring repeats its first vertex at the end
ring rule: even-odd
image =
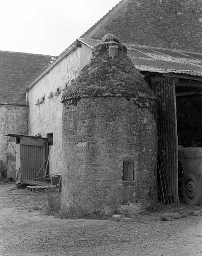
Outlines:
{"type": "Polygon", "coordinates": [[[12,186],[0,183],[0,256],[202,255],[200,207],[170,206],[133,218],[60,219],[44,214],[45,194],[6,194],[12,186]]]}

